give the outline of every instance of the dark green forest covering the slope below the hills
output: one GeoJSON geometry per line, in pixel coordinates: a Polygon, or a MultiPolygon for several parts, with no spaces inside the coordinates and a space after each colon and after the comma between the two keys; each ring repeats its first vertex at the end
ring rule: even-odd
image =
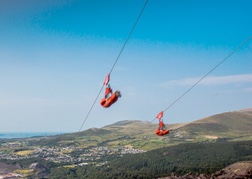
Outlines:
{"type": "Polygon", "coordinates": [[[188,143],[125,155],[102,166],[52,168],[50,178],[157,178],[171,173],[214,173],[238,161],[252,160],[252,141],[188,143]]]}

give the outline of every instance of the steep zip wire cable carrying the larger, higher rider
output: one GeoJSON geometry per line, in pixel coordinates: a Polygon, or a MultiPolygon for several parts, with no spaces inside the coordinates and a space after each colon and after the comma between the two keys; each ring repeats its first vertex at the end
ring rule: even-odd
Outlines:
{"type": "MultiPolygon", "coordinates": [[[[137,19],[136,19],[134,25],[133,25],[133,27],[132,27],[132,29],[131,29],[131,31],[130,31],[128,37],[126,38],[126,41],[124,42],[124,44],[123,44],[123,46],[122,46],[122,49],[121,49],[121,51],[119,52],[119,54],[118,54],[118,56],[117,56],[117,58],[116,58],[116,60],[115,60],[115,62],[114,62],[114,64],[113,64],[113,66],[112,66],[112,68],[111,68],[111,70],[110,70],[110,72],[109,72],[109,74],[111,74],[112,71],[114,70],[114,67],[115,67],[116,63],[118,62],[118,60],[119,60],[119,58],[120,58],[120,56],[121,56],[121,54],[122,54],[122,52],[123,52],[123,50],[124,50],[126,44],[128,43],[129,38],[130,38],[131,34],[133,33],[133,31],[134,31],[134,29],[135,29],[135,27],[136,27],[136,25],[137,25],[137,23],[138,23],[138,21],[139,21],[141,15],[142,15],[142,13],[143,13],[143,11],[144,11],[144,9],[145,9],[147,3],[148,3],[148,0],[145,1],[145,4],[144,4],[142,10],[140,11],[140,13],[139,13],[139,15],[138,15],[138,17],[137,17],[137,19]]],[[[100,94],[101,94],[101,92],[102,92],[102,90],[103,90],[103,87],[104,87],[104,84],[102,85],[102,87],[101,87],[101,89],[100,89],[98,95],[96,96],[96,98],[95,98],[93,104],[91,105],[91,108],[89,109],[89,111],[88,111],[88,113],[87,113],[87,115],[86,115],[86,117],[85,117],[83,123],[81,124],[81,127],[80,127],[80,129],[79,129],[79,132],[81,131],[81,129],[82,129],[83,125],[85,124],[85,122],[87,121],[87,119],[88,119],[88,117],[89,117],[89,115],[90,115],[92,109],[94,108],[94,105],[95,105],[97,99],[99,98],[99,96],[100,96],[100,94]]]]}

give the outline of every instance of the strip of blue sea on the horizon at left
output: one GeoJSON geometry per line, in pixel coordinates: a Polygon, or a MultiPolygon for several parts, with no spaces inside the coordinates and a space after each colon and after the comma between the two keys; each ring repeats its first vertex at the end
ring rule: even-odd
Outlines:
{"type": "Polygon", "coordinates": [[[29,138],[39,136],[53,136],[67,132],[0,132],[0,139],[29,138]]]}

